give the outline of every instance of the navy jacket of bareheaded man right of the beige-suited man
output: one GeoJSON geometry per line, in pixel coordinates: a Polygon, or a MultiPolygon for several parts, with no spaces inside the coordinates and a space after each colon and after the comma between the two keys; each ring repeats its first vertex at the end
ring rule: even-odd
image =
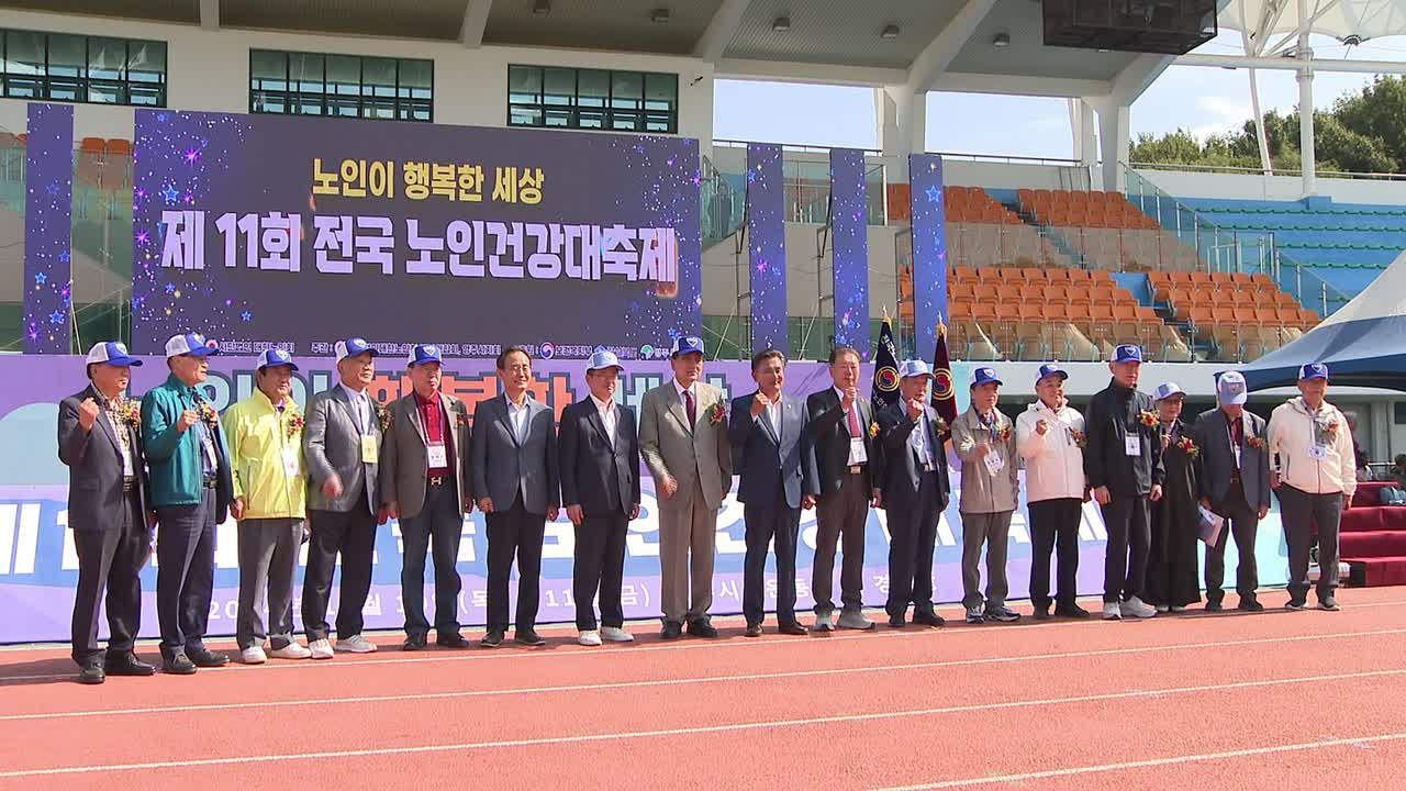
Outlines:
{"type": "Polygon", "coordinates": [[[801,494],[817,494],[815,477],[806,463],[810,456],[810,425],[806,405],[782,394],[782,434],[770,424],[752,417],[755,393],[733,398],[727,438],[733,446],[733,464],[741,483],[737,501],[754,505],[776,502],[778,487],[786,494],[789,508],[800,508],[801,494]]]}

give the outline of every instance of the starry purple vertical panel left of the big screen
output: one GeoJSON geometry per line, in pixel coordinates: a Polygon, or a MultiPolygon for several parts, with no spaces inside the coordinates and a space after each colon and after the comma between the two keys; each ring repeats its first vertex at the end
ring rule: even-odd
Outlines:
{"type": "Polygon", "coordinates": [[[24,197],[24,352],[66,355],[73,253],[73,106],[30,104],[24,197]]]}

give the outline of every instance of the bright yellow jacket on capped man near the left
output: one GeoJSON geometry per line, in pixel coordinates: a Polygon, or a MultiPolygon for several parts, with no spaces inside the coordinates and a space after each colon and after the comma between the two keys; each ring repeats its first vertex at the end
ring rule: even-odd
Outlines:
{"type": "Polygon", "coordinates": [[[229,407],[221,422],[229,442],[235,498],[245,500],[245,518],[302,519],[308,464],[302,459],[302,411],[292,398],[280,415],[256,388],[229,407]]]}

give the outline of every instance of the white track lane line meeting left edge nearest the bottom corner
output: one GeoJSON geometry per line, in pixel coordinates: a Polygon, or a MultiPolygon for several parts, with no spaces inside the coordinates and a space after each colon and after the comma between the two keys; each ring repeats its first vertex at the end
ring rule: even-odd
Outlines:
{"type": "MultiPolygon", "coordinates": [[[[1291,678],[1267,678],[1260,681],[1233,681],[1227,684],[1206,684],[1201,687],[1167,687],[1161,690],[1129,690],[1126,692],[1105,692],[1101,695],[1073,695],[1062,698],[1040,698],[1024,701],[1004,701],[991,704],[970,704],[959,707],[877,711],[868,714],[841,714],[832,716],[807,716],[797,719],[763,719],[755,722],[733,722],[727,725],[699,725],[692,728],[668,728],[658,730],[623,730],[607,733],[581,733],[572,736],[544,736],[537,739],[503,739],[498,742],[464,742],[457,745],[416,745],[411,747],[375,747],[361,750],[326,750],[318,753],[271,753],[262,756],[228,756],[221,759],[191,759],[180,761],[149,761],[125,764],[91,764],[91,766],[60,766],[45,768],[22,768],[0,771],[0,778],[7,777],[41,777],[60,774],[93,774],[107,771],[149,771],[157,768],[183,768],[195,766],[225,766],[247,763],[288,763],[323,759],[349,759],[373,756],[405,756],[423,753],[458,753],[470,750],[492,750],[503,747],[537,747],[547,745],[581,745],[592,742],[620,742],[628,739],[659,739],[668,736],[690,736],[699,733],[735,733],[748,730],[775,730],[780,728],[797,728],[811,725],[837,725],[846,722],[873,722],[883,719],[901,719],[915,716],[938,716],[946,714],[970,714],[979,711],[1002,711],[1018,708],[1036,708],[1049,705],[1069,705],[1099,701],[1118,701],[1135,698],[1156,698],[1161,695],[1185,695],[1191,692],[1218,692],[1229,690],[1251,690],[1265,687],[1288,687],[1294,684],[1322,684],[1324,681],[1348,681],[1360,678],[1384,678],[1392,676],[1406,676],[1406,669],[1372,670],[1367,673],[1337,673],[1327,676],[1298,676],[1291,678]]],[[[986,780],[986,778],[983,778],[986,780]]]]}

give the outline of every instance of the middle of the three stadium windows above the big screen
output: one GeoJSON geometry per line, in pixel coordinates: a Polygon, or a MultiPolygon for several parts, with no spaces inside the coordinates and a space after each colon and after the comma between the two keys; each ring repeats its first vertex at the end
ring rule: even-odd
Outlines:
{"type": "Polygon", "coordinates": [[[434,62],[249,51],[249,111],[434,120],[434,62]]]}

